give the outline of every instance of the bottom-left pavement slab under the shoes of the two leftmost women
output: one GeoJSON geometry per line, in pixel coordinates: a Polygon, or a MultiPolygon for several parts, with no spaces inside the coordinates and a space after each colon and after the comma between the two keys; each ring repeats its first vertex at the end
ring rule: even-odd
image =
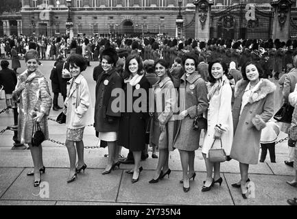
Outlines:
{"type": "Polygon", "coordinates": [[[121,170],[112,171],[103,176],[103,170],[87,169],[85,174],[78,174],[78,179],[67,183],[69,169],[49,168],[41,176],[49,185],[49,198],[38,196],[40,188],[34,188],[33,177],[27,177],[25,169],[5,192],[1,199],[27,201],[105,201],[115,202],[121,179],[121,170]]]}

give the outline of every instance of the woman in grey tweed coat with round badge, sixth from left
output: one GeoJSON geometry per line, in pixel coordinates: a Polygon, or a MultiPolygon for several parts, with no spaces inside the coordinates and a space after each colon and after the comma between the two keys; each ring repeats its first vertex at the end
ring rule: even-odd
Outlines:
{"type": "Polygon", "coordinates": [[[194,158],[198,149],[201,129],[193,129],[195,116],[202,116],[209,101],[207,99],[207,87],[202,76],[196,71],[198,57],[194,53],[186,53],[182,64],[185,66],[185,74],[180,79],[179,100],[180,114],[177,120],[177,134],[174,140],[174,148],[180,152],[182,163],[182,183],[184,192],[189,192],[189,179],[195,179],[194,158]]]}

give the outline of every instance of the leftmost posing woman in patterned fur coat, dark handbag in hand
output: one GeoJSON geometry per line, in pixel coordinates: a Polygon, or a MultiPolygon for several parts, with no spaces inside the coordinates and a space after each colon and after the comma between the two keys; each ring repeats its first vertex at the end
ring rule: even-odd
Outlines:
{"type": "Polygon", "coordinates": [[[43,148],[32,146],[32,129],[34,122],[40,124],[45,140],[49,137],[47,116],[51,109],[51,94],[49,83],[43,73],[38,69],[38,54],[34,49],[29,49],[25,54],[27,70],[18,77],[16,88],[12,93],[14,100],[20,99],[18,131],[21,144],[28,144],[31,151],[34,170],[27,172],[28,176],[34,175],[34,186],[40,184],[40,172],[45,172],[43,166],[43,148]]]}

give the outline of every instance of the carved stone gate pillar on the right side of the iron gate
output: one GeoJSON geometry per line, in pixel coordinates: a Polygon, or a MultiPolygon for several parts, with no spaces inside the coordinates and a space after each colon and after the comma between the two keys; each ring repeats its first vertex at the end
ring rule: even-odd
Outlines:
{"type": "Polygon", "coordinates": [[[292,4],[293,1],[291,0],[278,0],[270,3],[274,9],[272,39],[278,38],[279,40],[286,42],[289,38],[292,4]]]}

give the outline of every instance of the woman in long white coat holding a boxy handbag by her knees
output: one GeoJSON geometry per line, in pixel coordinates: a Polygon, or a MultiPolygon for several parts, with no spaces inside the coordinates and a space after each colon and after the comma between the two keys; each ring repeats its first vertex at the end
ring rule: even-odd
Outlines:
{"type": "Polygon", "coordinates": [[[222,60],[215,60],[209,64],[209,110],[207,115],[207,131],[204,137],[202,155],[206,166],[206,181],[202,192],[211,190],[215,183],[222,184],[219,162],[209,161],[209,150],[220,149],[221,146],[230,155],[233,142],[233,118],[232,118],[232,89],[227,79],[228,67],[222,60]],[[221,143],[222,142],[222,143],[221,143]],[[222,145],[221,145],[222,144],[222,145]],[[214,176],[213,175],[214,171],[214,176]]]}

